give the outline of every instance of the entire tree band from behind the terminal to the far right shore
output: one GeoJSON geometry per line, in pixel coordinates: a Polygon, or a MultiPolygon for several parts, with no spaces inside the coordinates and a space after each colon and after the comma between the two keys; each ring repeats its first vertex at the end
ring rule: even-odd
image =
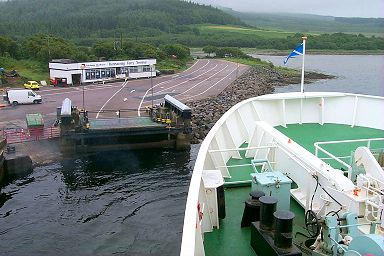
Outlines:
{"type": "MultiPolygon", "coordinates": [[[[61,58],[76,61],[97,61],[101,58],[107,60],[140,58],[156,58],[158,60],[176,58],[186,60],[190,58],[188,47],[196,46],[204,47],[205,52],[215,53],[220,57],[230,53],[233,56],[245,58],[246,56],[238,50],[239,47],[290,50],[302,41],[302,36],[302,34],[296,34],[288,36],[286,39],[263,39],[256,37],[245,38],[244,40],[241,38],[236,39],[236,37],[216,38],[213,36],[212,38],[207,38],[207,40],[198,41],[194,41],[189,37],[177,36],[166,37],[164,40],[161,40],[161,37],[156,40],[151,40],[150,38],[146,40],[143,40],[143,38],[138,40],[121,38],[118,41],[99,40],[89,47],[79,46],[69,40],[49,34],[36,34],[23,41],[0,36],[0,56],[12,57],[14,59],[38,60],[42,63],[61,58]]],[[[366,37],[361,34],[322,34],[319,36],[308,36],[307,49],[383,50],[384,39],[366,37]]]]}

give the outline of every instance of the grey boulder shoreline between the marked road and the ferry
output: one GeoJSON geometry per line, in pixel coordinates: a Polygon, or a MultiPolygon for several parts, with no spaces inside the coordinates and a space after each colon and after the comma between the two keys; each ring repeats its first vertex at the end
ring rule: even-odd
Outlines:
{"type": "MultiPolygon", "coordinates": [[[[305,83],[333,76],[306,72],[305,83]]],[[[270,67],[250,67],[242,76],[214,97],[188,102],[192,108],[191,143],[200,143],[216,121],[235,104],[252,97],[270,94],[276,86],[300,83],[300,75],[285,75],[270,67]]]]}

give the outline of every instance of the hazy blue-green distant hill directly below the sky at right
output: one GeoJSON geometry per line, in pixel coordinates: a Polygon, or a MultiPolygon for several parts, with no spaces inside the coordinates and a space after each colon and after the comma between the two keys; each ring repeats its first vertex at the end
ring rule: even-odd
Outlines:
{"type": "Polygon", "coordinates": [[[270,30],[383,34],[384,18],[342,18],[312,14],[242,13],[220,8],[248,25],[270,30]]]}

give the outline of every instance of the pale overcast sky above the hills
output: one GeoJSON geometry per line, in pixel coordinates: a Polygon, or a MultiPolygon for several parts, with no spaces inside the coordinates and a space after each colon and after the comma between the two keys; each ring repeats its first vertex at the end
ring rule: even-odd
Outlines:
{"type": "Polygon", "coordinates": [[[289,12],[337,17],[383,18],[384,0],[192,0],[243,12],[289,12]]]}

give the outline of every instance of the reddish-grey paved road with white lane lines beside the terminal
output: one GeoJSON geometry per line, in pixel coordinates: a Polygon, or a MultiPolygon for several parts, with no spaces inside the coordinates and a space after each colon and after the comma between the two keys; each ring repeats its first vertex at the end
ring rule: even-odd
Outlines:
{"type": "MultiPolygon", "coordinates": [[[[46,123],[56,118],[56,109],[65,98],[80,108],[84,107],[91,118],[116,117],[117,110],[130,110],[129,115],[140,115],[140,109],[152,103],[163,102],[169,94],[188,105],[188,101],[214,96],[245,72],[247,66],[214,59],[197,60],[182,73],[153,79],[127,80],[106,84],[87,84],[76,87],[46,86],[37,93],[42,104],[18,105],[0,108],[0,129],[17,125],[25,127],[27,113],[43,114],[46,123]],[[151,86],[153,85],[153,86],[151,86]]],[[[128,113],[128,112],[124,112],[128,113]]]]}

